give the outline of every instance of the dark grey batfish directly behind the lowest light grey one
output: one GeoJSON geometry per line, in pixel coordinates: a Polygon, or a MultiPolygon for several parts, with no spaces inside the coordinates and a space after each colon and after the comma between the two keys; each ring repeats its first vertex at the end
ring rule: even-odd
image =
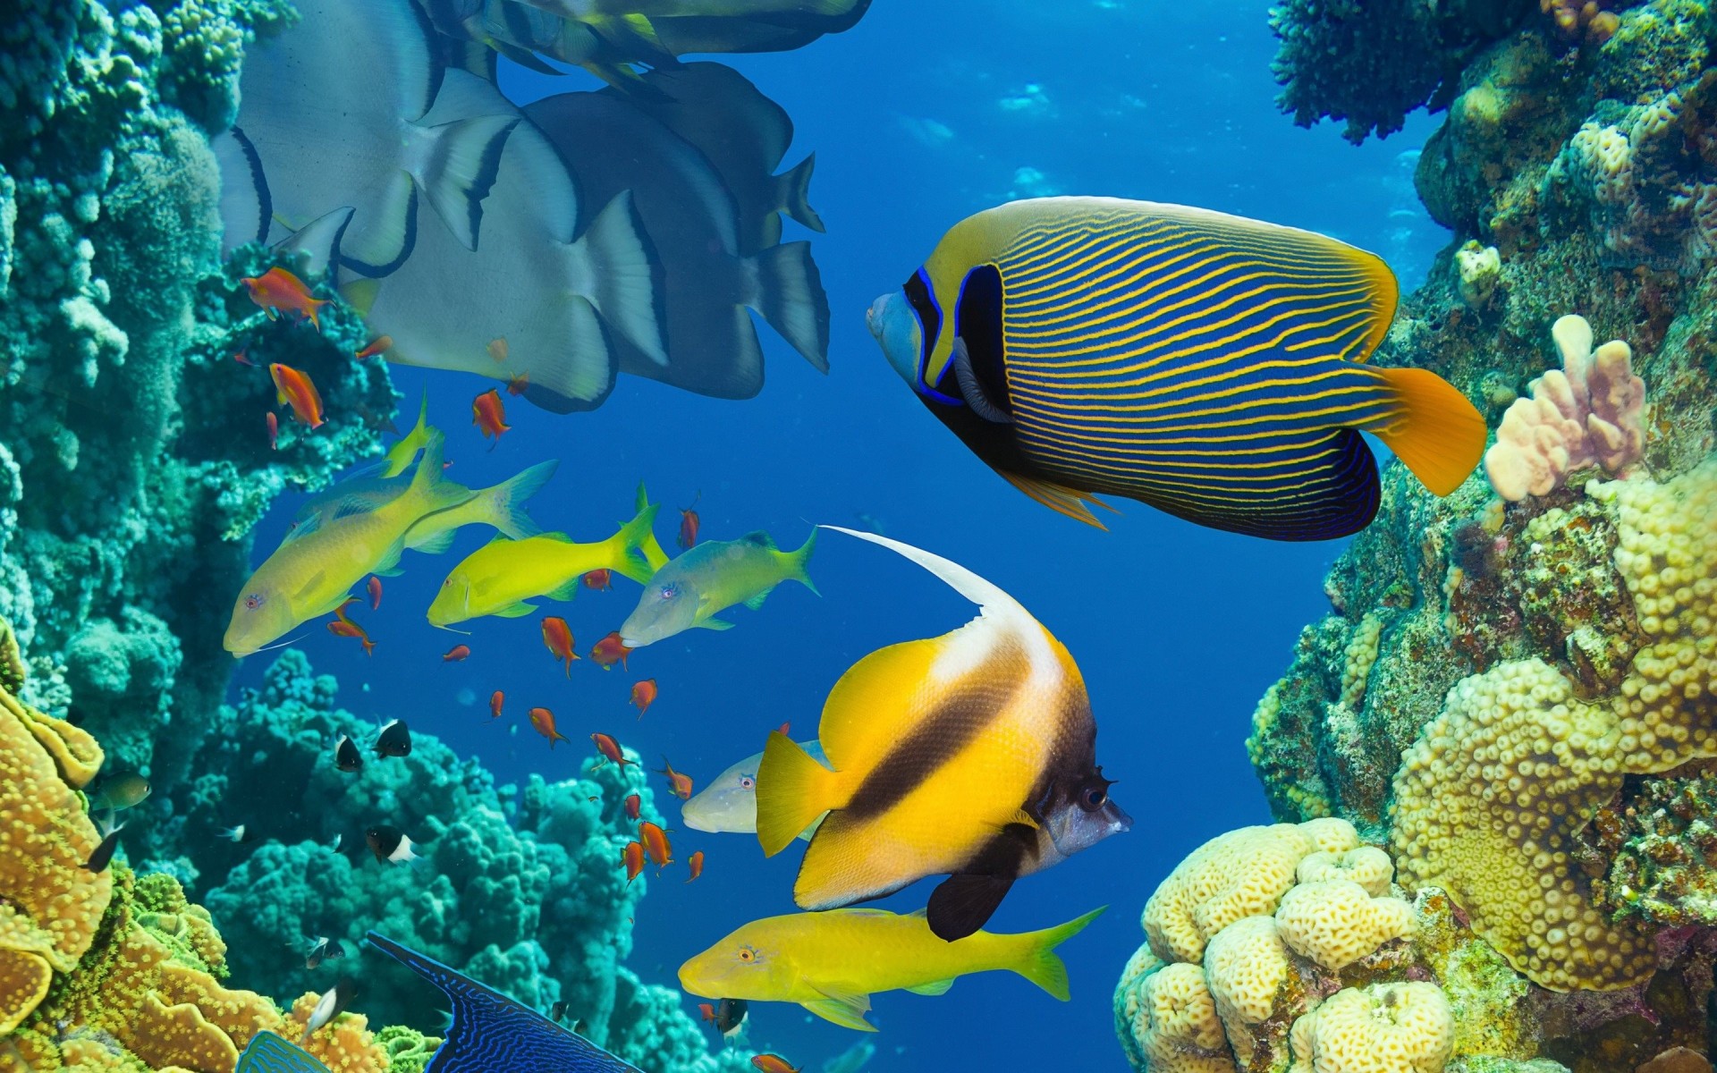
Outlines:
{"type": "Polygon", "coordinates": [[[561,93],[525,108],[560,149],[585,197],[632,191],[661,264],[666,362],[616,338],[620,371],[711,395],[750,398],[762,388],[762,345],[750,312],[819,371],[828,371],[828,295],[809,242],[745,256],[738,206],[714,165],[690,142],[622,98],[561,93]],[[591,146],[604,146],[591,153],[591,146]]]}

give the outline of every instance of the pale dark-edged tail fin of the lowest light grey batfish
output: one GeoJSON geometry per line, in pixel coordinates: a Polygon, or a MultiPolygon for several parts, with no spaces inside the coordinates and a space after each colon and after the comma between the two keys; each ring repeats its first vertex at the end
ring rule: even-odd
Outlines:
{"type": "Polygon", "coordinates": [[[632,204],[632,191],[615,194],[591,220],[572,256],[584,261],[591,306],[658,366],[668,364],[663,343],[663,268],[632,204]]]}

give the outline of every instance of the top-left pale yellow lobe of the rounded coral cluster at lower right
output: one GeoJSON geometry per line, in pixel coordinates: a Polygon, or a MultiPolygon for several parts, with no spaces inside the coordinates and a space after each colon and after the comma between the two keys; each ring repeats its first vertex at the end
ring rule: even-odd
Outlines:
{"type": "Polygon", "coordinates": [[[1145,903],[1142,924],[1164,961],[1198,961],[1216,932],[1243,917],[1271,915],[1295,884],[1300,860],[1358,845],[1353,824],[1240,827],[1204,843],[1162,881],[1145,903]]]}

